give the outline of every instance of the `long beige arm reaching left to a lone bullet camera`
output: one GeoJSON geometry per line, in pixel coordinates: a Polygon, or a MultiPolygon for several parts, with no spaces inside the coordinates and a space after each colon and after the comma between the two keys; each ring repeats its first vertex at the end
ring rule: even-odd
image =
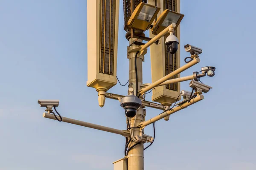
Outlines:
{"type": "MultiPolygon", "coordinates": [[[[43,117],[48,118],[48,119],[56,120],[55,117],[52,114],[49,114],[49,113],[44,113],[43,117]]],[[[57,118],[60,119],[59,116],[57,116],[57,118]]],[[[90,127],[90,128],[102,130],[102,131],[105,131],[105,132],[111,132],[111,133],[116,133],[116,134],[119,134],[119,135],[122,135],[122,136],[125,136],[125,137],[130,137],[130,132],[128,130],[113,129],[111,127],[96,125],[96,124],[92,124],[92,123],[88,123],[88,122],[83,122],[83,121],[80,121],[80,120],[70,119],[70,118],[67,118],[67,117],[62,117],[62,122],[67,122],[67,123],[71,123],[71,124],[79,125],[79,126],[84,126],[84,127],[90,127]]]]}

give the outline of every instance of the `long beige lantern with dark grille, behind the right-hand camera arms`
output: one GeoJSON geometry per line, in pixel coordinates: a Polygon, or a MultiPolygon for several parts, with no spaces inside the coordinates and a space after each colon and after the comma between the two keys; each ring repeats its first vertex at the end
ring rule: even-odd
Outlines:
{"type": "MultiPolygon", "coordinates": [[[[159,14],[157,15],[157,19],[160,18],[160,15],[163,14],[165,11],[165,1],[164,0],[148,0],[148,3],[155,4],[157,2],[157,6],[161,8],[159,14]]],[[[173,1],[174,2],[174,1],[173,1]]],[[[175,0],[177,12],[180,13],[180,0],[175,0]]],[[[154,38],[155,35],[152,34],[150,30],[149,35],[151,38],[154,38]]],[[[180,41],[180,25],[175,27],[175,32],[178,40],[180,41]]],[[[181,43],[178,45],[177,55],[177,68],[180,67],[180,46],[181,43]]],[[[165,48],[165,38],[160,38],[160,44],[152,44],[150,46],[150,59],[151,59],[151,78],[152,82],[156,82],[157,80],[161,79],[162,77],[166,76],[166,48],[165,48]]],[[[168,63],[168,62],[167,62],[168,63]]],[[[174,63],[173,63],[174,64],[174,63]]],[[[177,74],[177,78],[180,77],[180,74],[177,74]]],[[[172,77],[171,77],[172,78],[172,77]]],[[[166,86],[158,86],[154,88],[152,92],[152,101],[159,102],[161,105],[171,106],[173,102],[176,101],[177,97],[180,94],[180,83],[177,83],[177,91],[170,90],[166,88],[166,86]]],[[[181,99],[179,97],[178,99],[181,99]]],[[[168,120],[169,117],[166,117],[165,120],[168,120]]]]}

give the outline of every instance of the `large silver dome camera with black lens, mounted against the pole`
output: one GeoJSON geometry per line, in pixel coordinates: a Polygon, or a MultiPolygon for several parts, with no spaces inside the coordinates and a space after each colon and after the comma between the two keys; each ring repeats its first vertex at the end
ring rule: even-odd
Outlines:
{"type": "Polygon", "coordinates": [[[134,95],[128,95],[121,99],[121,106],[125,109],[127,117],[134,117],[137,109],[141,107],[141,99],[134,95]]]}

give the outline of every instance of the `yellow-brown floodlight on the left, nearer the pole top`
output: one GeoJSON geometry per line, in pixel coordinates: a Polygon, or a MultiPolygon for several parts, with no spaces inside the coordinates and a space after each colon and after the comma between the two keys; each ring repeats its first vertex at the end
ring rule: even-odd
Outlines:
{"type": "Polygon", "coordinates": [[[157,17],[160,8],[141,2],[131,14],[128,26],[134,29],[148,30],[157,17]]]}

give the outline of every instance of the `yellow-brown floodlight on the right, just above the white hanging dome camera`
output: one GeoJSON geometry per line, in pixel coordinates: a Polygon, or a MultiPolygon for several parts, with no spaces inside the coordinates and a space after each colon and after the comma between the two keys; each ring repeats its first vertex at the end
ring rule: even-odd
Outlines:
{"type": "MultiPolygon", "coordinates": [[[[166,27],[168,27],[172,23],[176,24],[175,29],[177,29],[183,17],[184,17],[184,14],[180,14],[178,12],[166,9],[165,11],[163,11],[163,13],[154,23],[154,26],[152,28],[152,34],[154,35],[159,34],[161,31],[163,31],[166,27]]],[[[166,36],[169,36],[169,34],[166,34],[166,36]]]]}

